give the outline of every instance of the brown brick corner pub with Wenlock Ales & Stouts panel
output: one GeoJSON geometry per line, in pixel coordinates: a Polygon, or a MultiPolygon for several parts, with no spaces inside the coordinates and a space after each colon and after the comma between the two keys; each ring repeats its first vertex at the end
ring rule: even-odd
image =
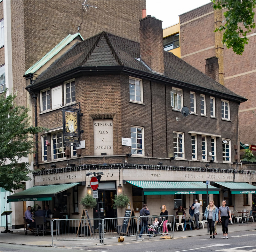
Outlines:
{"type": "Polygon", "coordinates": [[[161,204],[174,214],[178,204],[188,208],[195,197],[205,208],[206,180],[216,205],[223,197],[233,207],[243,208],[244,201],[251,207],[245,190],[255,187],[239,182],[255,181],[256,174],[233,164],[238,108],[246,99],[164,52],[160,20],[144,15],[137,21],[134,38],[109,30],[89,38],[67,34],[26,68],[33,123],[49,130],[36,136],[35,186],[8,196],[12,204],[33,195],[36,203],[57,205],[76,218],[81,197],[89,193],[85,174],[103,172],[101,217],[120,216],[112,207],[117,189],[130,197],[131,208],[146,202],[152,215],[161,204]],[[64,141],[62,110],[71,106],[80,109],[81,119],[65,121],[64,131],[78,129],[79,146],[64,141]],[[227,181],[236,188],[220,190],[227,181]],[[46,193],[51,185],[54,195],[46,193]],[[67,191],[58,191],[60,185],[67,191]]]}

